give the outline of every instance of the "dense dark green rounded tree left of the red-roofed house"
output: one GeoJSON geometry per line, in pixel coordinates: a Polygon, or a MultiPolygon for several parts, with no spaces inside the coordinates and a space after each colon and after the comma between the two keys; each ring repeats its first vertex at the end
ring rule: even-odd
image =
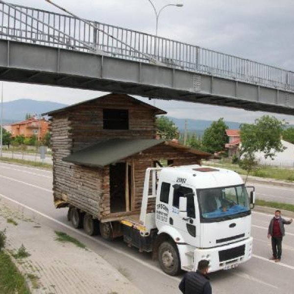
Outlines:
{"type": "Polygon", "coordinates": [[[203,150],[209,153],[223,150],[226,143],[226,129],[228,129],[228,126],[224,123],[223,118],[213,122],[210,127],[205,129],[202,137],[203,150]]]}

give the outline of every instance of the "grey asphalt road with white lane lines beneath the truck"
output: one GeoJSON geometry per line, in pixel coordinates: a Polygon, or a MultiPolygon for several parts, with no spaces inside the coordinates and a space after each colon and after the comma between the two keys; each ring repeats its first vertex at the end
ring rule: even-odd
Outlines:
{"type": "MultiPolygon", "coordinates": [[[[54,208],[51,187],[50,171],[0,163],[1,203],[28,212],[41,224],[46,223],[54,230],[62,230],[77,238],[121,271],[144,293],[179,294],[177,287],[181,275],[170,277],[163,273],[158,262],[151,260],[150,254],[127,247],[121,239],[109,243],[99,236],[89,237],[82,230],[73,229],[66,218],[67,209],[54,208]]],[[[259,188],[261,192],[266,191],[259,188]]],[[[287,189],[280,189],[269,188],[267,193],[263,193],[285,195],[287,189]]],[[[293,194],[293,190],[288,189],[287,195],[289,193],[290,196],[291,191],[293,194]]],[[[270,218],[267,214],[252,213],[253,258],[235,270],[211,273],[214,294],[293,293],[294,225],[286,227],[282,262],[275,264],[268,260],[271,255],[270,241],[267,239],[270,218]]]]}

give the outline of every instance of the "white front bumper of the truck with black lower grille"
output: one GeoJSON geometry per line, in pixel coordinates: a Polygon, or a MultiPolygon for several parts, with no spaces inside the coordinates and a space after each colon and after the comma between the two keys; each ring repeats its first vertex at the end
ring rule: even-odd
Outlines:
{"type": "Polygon", "coordinates": [[[236,268],[249,260],[252,255],[253,238],[214,248],[196,248],[194,250],[194,270],[201,259],[209,260],[209,272],[236,268]]]}

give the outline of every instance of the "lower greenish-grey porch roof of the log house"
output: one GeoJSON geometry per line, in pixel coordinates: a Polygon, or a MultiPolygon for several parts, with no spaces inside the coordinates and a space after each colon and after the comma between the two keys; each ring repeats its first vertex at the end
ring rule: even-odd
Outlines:
{"type": "Polygon", "coordinates": [[[201,158],[208,158],[211,155],[210,153],[202,152],[190,147],[185,147],[183,145],[164,140],[110,139],[107,141],[100,141],[99,143],[90,147],[74,152],[62,160],[78,165],[102,168],[159,144],[165,144],[175,148],[183,149],[185,152],[194,153],[199,155],[201,158]]]}

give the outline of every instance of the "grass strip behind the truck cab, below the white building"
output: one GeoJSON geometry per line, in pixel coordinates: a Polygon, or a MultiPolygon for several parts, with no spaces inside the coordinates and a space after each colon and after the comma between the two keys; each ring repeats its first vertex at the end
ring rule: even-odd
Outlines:
{"type": "MultiPolygon", "coordinates": [[[[247,172],[242,170],[239,165],[232,164],[228,162],[220,162],[220,163],[205,163],[208,166],[221,167],[224,169],[232,170],[238,172],[240,174],[246,174],[247,172]]],[[[283,169],[283,168],[275,168],[275,167],[266,167],[259,166],[254,171],[250,172],[249,175],[259,176],[264,178],[272,178],[277,180],[287,180],[294,181],[294,170],[293,169],[283,169]]]]}

